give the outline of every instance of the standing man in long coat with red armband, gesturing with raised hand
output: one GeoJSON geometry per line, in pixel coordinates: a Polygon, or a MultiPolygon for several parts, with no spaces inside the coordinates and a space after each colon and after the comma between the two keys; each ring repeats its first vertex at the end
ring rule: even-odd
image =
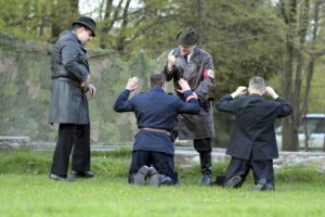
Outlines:
{"type": "MultiPolygon", "coordinates": [[[[196,47],[198,34],[186,27],[177,36],[178,48],[168,54],[162,73],[167,81],[173,79],[179,89],[181,78],[187,80],[192,91],[198,97],[200,112],[198,115],[182,114],[178,117],[176,132],[180,140],[194,140],[194,148],[199,153],[202,184],[211,181],[211,137],[214,137],[211,98],[209,88],[213,85],[213,61],[211,55],[196,47]]],[[[178,93],[182,95],[182,93],[178,93]]]]}

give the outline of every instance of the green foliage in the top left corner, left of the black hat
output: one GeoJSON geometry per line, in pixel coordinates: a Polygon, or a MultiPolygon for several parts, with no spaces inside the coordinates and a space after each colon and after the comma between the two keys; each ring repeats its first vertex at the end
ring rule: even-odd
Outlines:
{"type": "Polygon", "coordinates": [[[79,16],[79,0],[11,0],[0,2],[0,30],[54,42],[79,16]]]}

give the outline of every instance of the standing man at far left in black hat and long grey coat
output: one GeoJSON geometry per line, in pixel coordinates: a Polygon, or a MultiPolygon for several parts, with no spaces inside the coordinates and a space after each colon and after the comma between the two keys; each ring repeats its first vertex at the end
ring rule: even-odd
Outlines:
{"type": "Polygon", "coordinates": [[[74,180],[91,178],[90,124],[86,92],[95,94],[83,44],[95,36],[95,22],[87,16],[73,23],[52,50],[51,102],[49,123],[58,123],[58,138],[53,154],[50,178],[74,180]],[[69,156],[74,176],[67,176],[69,156]]]}

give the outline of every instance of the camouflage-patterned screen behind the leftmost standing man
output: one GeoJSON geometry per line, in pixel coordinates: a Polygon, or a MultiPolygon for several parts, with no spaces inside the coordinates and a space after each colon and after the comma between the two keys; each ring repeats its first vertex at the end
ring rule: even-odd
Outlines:
{"type": "MultiPolygon", "coordinates": [[[[55,141],[57,126],[48,124],[52,44],[22,40],[0,33],[0,135],[25,135],[32,141],[55,141]]],[[[113,104],[129,77],[138,76],[148,89],[148,76],[162,61],[144,53],[128,62],[109,50],[90,50],[92,82],[98,89],[89,98],[91,140],[118,144],[133,140],[134,115],[117,114],[113,104]]],[[[138,91],[138,92],[139,92],[138,91]]]]}

